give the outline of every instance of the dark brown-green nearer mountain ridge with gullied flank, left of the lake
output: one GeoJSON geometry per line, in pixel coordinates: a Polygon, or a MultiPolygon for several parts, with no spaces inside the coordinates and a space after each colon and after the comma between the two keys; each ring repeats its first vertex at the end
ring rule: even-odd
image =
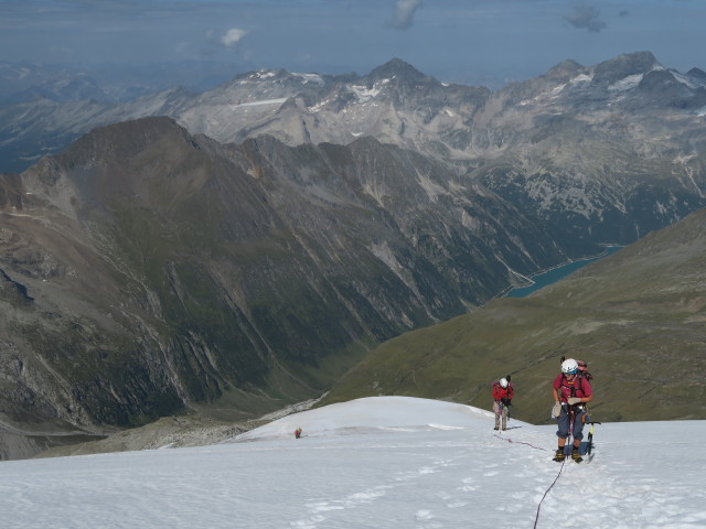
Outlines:
{"type": "Polygon", "coordinates": [[[370,138],[221,145],[149,118],[2,191],[0,404],[25,434],[318,396],[371,346],[565,258],[536,219],[370,138]]]}

